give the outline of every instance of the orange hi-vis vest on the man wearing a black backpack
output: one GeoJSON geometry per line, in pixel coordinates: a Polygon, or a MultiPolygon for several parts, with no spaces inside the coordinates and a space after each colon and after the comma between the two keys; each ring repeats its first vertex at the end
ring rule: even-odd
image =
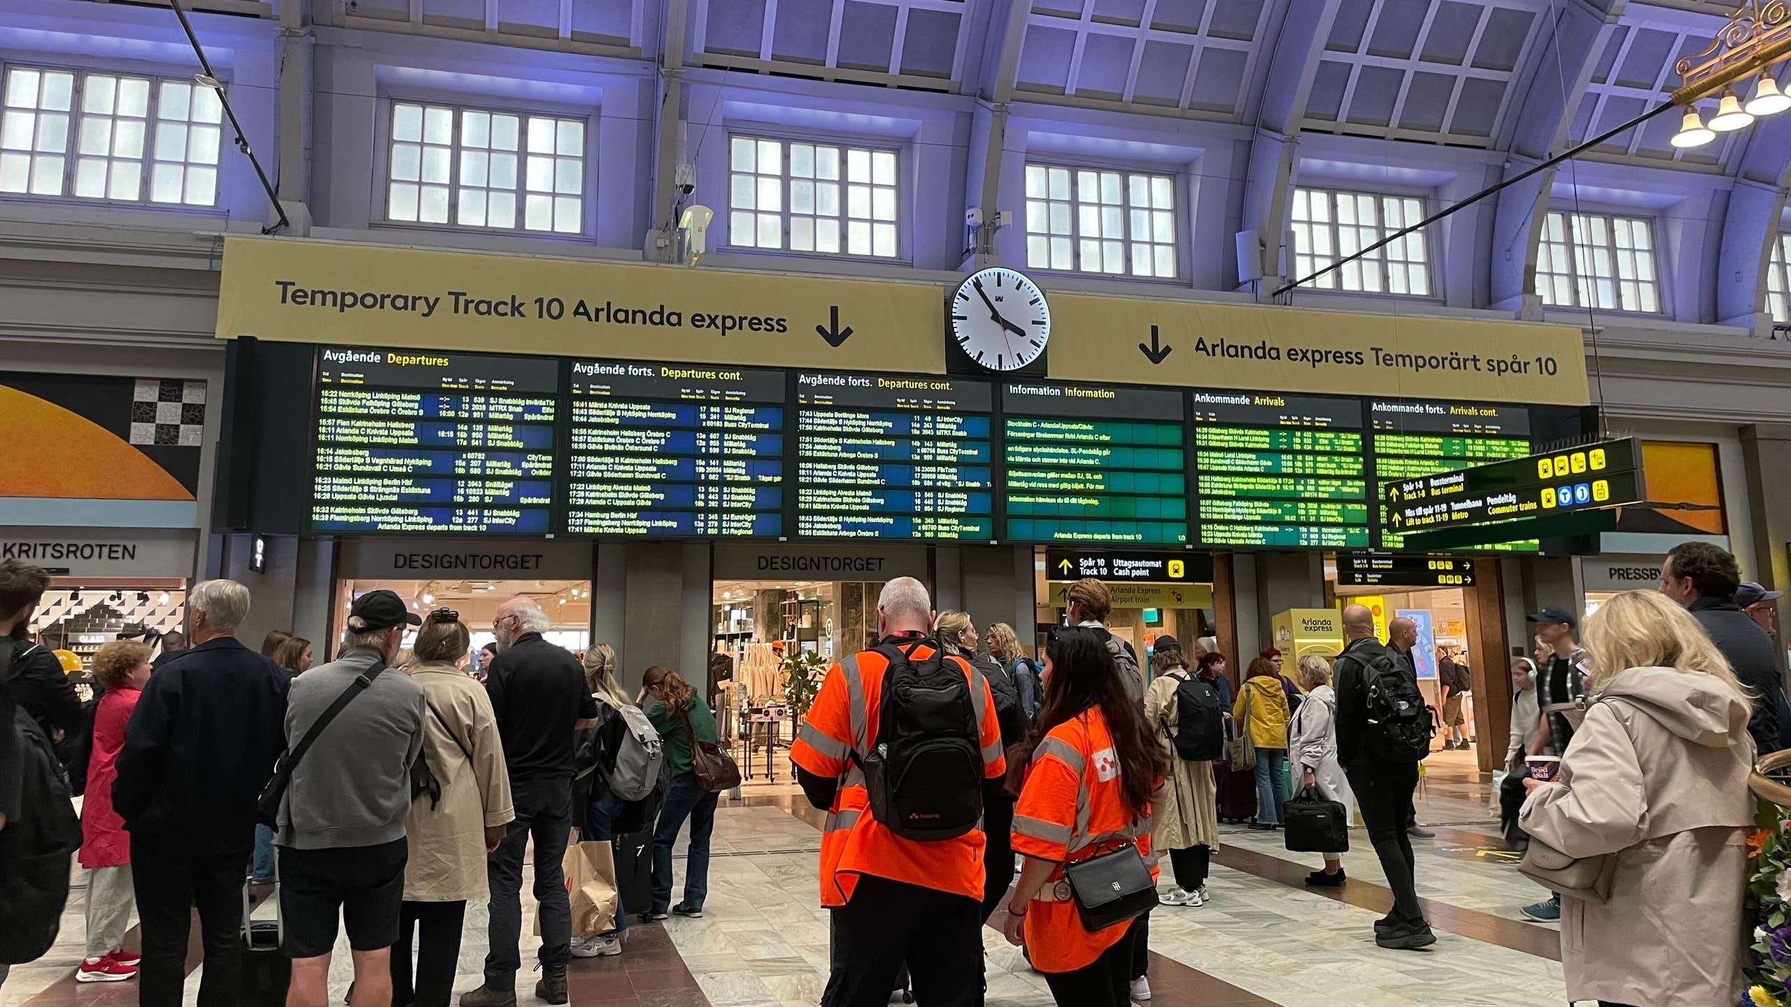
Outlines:
{"type": "MultiPolygon", "coordinates": [[[[919,638],[913,638],[919,640],[919,638]]],[[[908,645],[913,640],[892,640],[908,645]]],[[[931,647],[917,647],[910,656],[919,663],[933,656],[931,647]]],[[[962,658],[947,658],[971,679],[976,708],[983,778],[1007,772],[1001,751],[1001,726],[989,683],[962,658]]],[[[983,833],[971,830],[958,839],[913,842],[897,839],[870,815],[865,774],[853,763],[853,753],[869,753],[878,740],[883,699],[883,672],[888,658],[865,650],[827,670],[815,693],[815,704],[790,745],[790,760],[815,776],[840,779],[840,790],[827,810],[820,835],[820,905],[842,907],[853,898],[860,874],[888,878],[926,889],[983,898],[983,833]]]]}

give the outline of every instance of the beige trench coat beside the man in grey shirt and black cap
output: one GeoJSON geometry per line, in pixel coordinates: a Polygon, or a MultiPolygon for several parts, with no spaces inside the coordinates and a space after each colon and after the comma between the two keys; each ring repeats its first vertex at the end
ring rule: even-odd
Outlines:
{"type": "Polygon", "coordinates": [[[442,785],[442,797],[435,808],[428,796],[417,797],[405,815],[410,839],[405,901],[482,899],[487,894],[485,828],[516,819],[498,720],[485,686],[453,665],[412,665],[410,677],[435,708],[423,710],[423,753],[442,785]],[[473,753],[471,762],[466,753],[473,753]]]}

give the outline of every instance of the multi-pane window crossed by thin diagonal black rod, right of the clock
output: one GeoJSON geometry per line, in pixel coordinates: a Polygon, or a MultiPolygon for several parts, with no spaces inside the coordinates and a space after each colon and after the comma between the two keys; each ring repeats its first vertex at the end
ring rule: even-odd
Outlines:
{"type": "MultiPolygon", "coordinates": [[[[1417,224],[1424,219],[1424,201],[1410,195],[1297,188],[1291,217],[1293,274],[1306,278],[1401,228],[1417,224]]],[[[1395,238],[1386,247],[1345,262],[1311,285],[1318,290],[1427,297],[1431,267],[1424,233],[1395,238]]]]}

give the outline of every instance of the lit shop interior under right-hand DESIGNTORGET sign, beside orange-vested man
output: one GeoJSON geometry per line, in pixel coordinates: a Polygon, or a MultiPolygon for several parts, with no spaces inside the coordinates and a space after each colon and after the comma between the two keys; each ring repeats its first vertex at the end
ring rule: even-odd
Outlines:
{"type": "Polygon", "coordinates": [[[716,581],[709,706],[733,744],[747,792],[788,787],[793,710],[827,667],[872,641],[881,582],[716,581]],[[795,681],[792,681],[795,679],[795,681]]]}

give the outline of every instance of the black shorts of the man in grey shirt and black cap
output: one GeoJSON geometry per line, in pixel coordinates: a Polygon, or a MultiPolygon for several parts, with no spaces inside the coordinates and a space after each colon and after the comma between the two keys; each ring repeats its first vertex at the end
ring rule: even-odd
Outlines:
{"type": "Polygon", "coordinates": [[[335,950],[337,917],[347,946],[378,951],[398,942],[410,846],[398,839],[342,849],[279,848],[279,917],[287,957],[315,959],[335,950]]]}

